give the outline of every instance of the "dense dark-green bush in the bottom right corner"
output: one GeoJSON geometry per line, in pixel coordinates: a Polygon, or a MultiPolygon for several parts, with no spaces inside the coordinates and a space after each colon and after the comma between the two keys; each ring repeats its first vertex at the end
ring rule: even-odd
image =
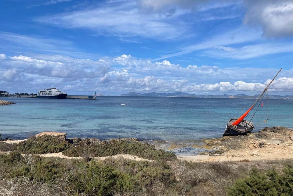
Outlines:
{"type": "Polygon", "coordinates": [[[263,174],[257,169],[252,169],[249,176],[236,180],[228,189],[228,195],[293,195],[293,168],[286,165],[283,171],[283,175],[276,170],[269,170],[263,174]]]}

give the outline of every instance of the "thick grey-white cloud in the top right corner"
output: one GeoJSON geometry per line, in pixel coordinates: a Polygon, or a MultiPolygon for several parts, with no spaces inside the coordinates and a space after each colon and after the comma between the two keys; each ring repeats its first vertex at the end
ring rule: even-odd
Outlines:
{"type": "Polygon", "coordinates": [[[244,23],[260,27],[267,37],[293,36],[293,2],[245,0],[244,23]]]}

